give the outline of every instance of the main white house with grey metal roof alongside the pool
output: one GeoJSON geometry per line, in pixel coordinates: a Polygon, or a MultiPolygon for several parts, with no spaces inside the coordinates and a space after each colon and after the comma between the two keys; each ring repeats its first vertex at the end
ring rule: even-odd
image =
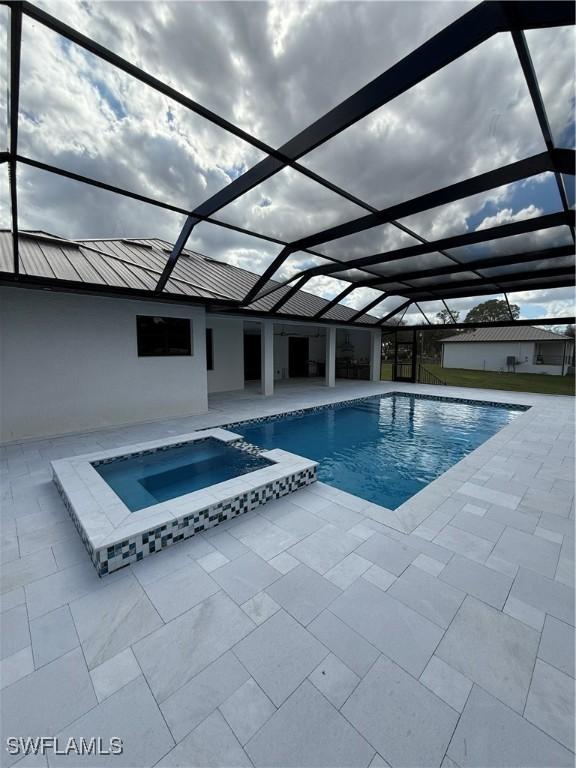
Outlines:
{"type": "Polygon", "coordinates": [[[151,295],[170,250],[21,233],[19,287],[0,231],[0,440],[205,413],[209,394],[247,384],[271,395],[283,379],[379,380],[379,318],[352,327],[354,309],[305,291],[264,317],[289,286],[234,307],[259,275],[189,250],[151,295]]]}

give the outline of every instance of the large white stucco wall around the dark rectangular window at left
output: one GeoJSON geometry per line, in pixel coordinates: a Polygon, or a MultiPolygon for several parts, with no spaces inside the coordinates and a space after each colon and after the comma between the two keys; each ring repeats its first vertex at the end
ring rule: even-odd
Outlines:
{"type": "Polygon", "coordinates": [[[201,307],[0,288],[0,329],[4,442],[207,410],[201,307]],[[139,358],[138,314],[190,318],[193,355],[139,358]]]}

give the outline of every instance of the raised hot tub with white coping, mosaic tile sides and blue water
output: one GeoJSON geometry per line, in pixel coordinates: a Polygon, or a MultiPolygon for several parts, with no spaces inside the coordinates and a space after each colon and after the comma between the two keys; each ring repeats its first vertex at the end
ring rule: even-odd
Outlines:
{"type": "Polygon", "coordinates": [[[317,463],[207,429],[52,462],[99,575],[316,480],[317,463]]]}

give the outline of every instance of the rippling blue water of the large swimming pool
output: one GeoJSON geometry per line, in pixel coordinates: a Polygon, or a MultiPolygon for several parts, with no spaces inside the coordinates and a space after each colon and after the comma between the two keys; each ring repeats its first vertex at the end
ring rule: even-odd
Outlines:
{"type": "Polygon", "coordinates": [[[523,410],[392,394],[234,431],[318,461],[323,482],[396,509],[523,410]]]}

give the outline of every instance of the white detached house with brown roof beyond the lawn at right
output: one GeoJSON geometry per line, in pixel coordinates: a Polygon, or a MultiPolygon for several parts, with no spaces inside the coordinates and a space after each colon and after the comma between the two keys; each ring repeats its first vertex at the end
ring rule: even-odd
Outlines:
{"type": "Polygon", "coordinates": [[[530,325],[478,328],[442,341],[442,367],[562,376],[574,368],[574,339],[530,325]]]}

